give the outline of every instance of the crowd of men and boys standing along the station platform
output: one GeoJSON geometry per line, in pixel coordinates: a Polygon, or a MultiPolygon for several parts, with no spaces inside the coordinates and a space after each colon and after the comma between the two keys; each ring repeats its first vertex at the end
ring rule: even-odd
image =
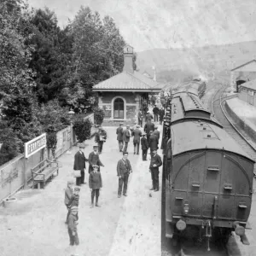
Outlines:
{"type": "MultiPolygon", "coordinates": [[[[156,106],[155,106],[156,108],[156,106]]],[[[153,109],[154,111],[154,109],[153,109]]],[[[159,111],[154,111],[154,120],[158,120],[158,114],[160,115],[160,123],[162,120],[161,109],[159,111]]],[[[132,172],[131,162],[128,160],[128,145],[130,143],[131,137],[133,137],[133,148],[134,154],[139,154],[140,145],[142,149],[143,161],[147,160],[148,148],[150,148],[150,164],[149,172],[151,172],[152,178],[152,188],[150,190],[159,191],[159,167],[162,165],[162,160],[160,155],[157,154],[157,149],[159,148],[160,131],[158,131],[157,125],[152,122],[153,116],[149,112],[145,117],[145,125],[143,131],[143,114],[142,111],[138,113],[138,124],[136,123],[132,128],[130,125],[119,124],[119,128],[116,130],[118,149],[119,152],[123,153],[122,159],[117,163],[117,176],[119,178],[118,185],[118,197],[121,195],[127,196],[127,186],[129,176],[132,172]]],[[[82,143],[79,145],[79,151],[74,155],[74,171],[80,171],[80,176],[76,177],[76,185],[72,189],[73,181],[67,182],[67,189],[65,190],[65,205],[67,207],[67,230],[70,239],[70,245],[79,245],[79,236],[77,232],[77,225],[79,220],[79,191],[80,186],[86,184],[84,182],[85,177],[85,162],[89,162],[89,187],[91,190],[91,204],[90,207],[94,207],[94,198],[96,197],[96,207],[101,207],[98,203],[100,189],[102,189],[102,175],[100,166],[104,166],[100,160],[100,154],[102,154],[103,143],[107,140],[107,132],[99,126],[99,130],[96,132],[95,142],[96,145],[93,146],[93,151],[89,154],[88,159],[84,155],[85,145],[82,143]]]]}

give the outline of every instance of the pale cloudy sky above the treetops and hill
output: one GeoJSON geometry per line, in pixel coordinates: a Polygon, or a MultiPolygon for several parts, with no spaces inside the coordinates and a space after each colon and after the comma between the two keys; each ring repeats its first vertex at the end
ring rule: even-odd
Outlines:
{"type": "Polygon", "coordinates": [[[54,10],[59,25],[81,5],[110,15],[135,51],[256,40],[256,0],[27,0],[54,10]]]}

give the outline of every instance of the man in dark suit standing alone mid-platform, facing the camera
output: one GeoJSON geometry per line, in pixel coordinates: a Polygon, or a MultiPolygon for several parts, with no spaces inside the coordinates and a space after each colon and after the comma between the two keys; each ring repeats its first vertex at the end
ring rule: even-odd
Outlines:
{"type": "Polygon", "coordinates": [[[118,197],[121,197],[122,190],[123,195],[127,196],[127,185],[129,175],[132,172],[130,160],[127,159],[128,152],[123,152],[123,158],[118,161],[117,164],[117,175],[119,177],[119,189],[118,197]]]}

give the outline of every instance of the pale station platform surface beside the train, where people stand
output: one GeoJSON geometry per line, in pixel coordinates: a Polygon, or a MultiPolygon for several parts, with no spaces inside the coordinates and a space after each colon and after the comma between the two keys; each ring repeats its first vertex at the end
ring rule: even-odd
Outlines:
{"type": "MultiPolygon", "coordinates": [[[[118,150],[116,127],[104,129],[108,132],[108,140],[100,155],[105,166],[101,168],[103,188],[99,203],[102,207],[90,208],[86,163],[86,184],[81,186],[79,199],[80,244],[76,251],[69,246],[67,225],[64,224],[67,216],[64,191],[67,180],[73,177],[74,154],[79,150],[73,147],[59,158],[59,176],[47,183],[45,189],[21,190],[15,195],[15,207],[0,207],[1,256],[160,255],[160,192],[152,192],[149,197],[149,160],[143,161],[141,154],[133,154],[133,144],[129,143],[128,158],[133,172],[129,178],[128,196],[118,198],[116,165],[122,154],[118,150]]],[[[94,144],[94,138],[85,141],[86,157],[94,144]]]]}

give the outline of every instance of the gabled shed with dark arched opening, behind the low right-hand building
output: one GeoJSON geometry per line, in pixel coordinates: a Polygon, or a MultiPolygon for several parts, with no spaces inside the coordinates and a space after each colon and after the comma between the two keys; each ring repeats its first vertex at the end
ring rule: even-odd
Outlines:
{"type": "Polygon", "coordinates": [[[240,85],[256,79],[256,60],[248,61],[230,70],[230,85],[239,92],[240,85]]]}

